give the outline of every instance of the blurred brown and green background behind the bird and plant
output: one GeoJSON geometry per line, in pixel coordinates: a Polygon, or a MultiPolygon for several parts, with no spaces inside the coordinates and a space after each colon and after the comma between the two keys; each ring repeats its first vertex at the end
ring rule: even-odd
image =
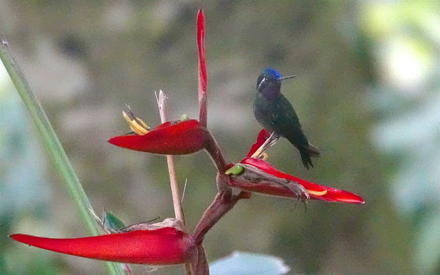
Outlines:
{"type": "MultiPolygon", "coordinates": [[[[198,118],[195,17],[206,13],[208,127],[237,162],[260,131],[256,78],[274,67],[323,156],[306,170],[287,140],[270,164],[361,195],[363,206],[253,195],[208,232],[234,250],[285,259],[292,274],[440,273],[439,1],[0,1],[0,29],[98,214],[126,224],[173,217],[165,157],[107,143],[129,104],[159,124],[198,118]]],[[[175,157],[192,230],[216,194],[205,153],[175,157]]],[[[99,261],[8,239],[87,232],[17,91],[0,72],[0,274],[105,274],[99,261]]],[[[133,265],[134,274],[147,267],[133,265]]],[[[181,267],[153,274],[182,274],[181,267]]]]}

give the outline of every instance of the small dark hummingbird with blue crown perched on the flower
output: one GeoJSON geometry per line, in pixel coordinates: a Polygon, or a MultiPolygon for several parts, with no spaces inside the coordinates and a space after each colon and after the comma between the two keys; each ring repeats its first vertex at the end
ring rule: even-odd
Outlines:
{"type": "Polygon", "coordinates": [[[307,140],[300,120],[289,100],[281,94],[281,81],[296,76],[281,77],[275,69],[266,68],[256,80],[254,116],[256,120],[274,137],[285,137],[300,151],[304,166],[314,167],[310,157],[320,157],[318,147],[307,140]]]}

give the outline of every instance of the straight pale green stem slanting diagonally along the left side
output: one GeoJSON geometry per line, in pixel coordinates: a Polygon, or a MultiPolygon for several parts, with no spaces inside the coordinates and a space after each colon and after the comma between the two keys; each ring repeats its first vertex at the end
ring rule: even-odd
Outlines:
{"type": "MultiPolygon", "coordinates": [[[[21,69],[17,65],[17,61],[15,61],[8,42],[1,32],[0,59],[8,71],[8,74],[12,79],[12,83],[14,83],[15,88],[19,92],[25,107],[28,109],[32,121],[41,135],[41,140],[43,141],[43,144],[45,145],[56,170],[58,170],[58,173],[63,178],[65,188],[67,189],[69,196],[74,201],[80,218],[83,220],[83,223],[85,223],[85,226],[90,234],[98,235],[100,228],[91,212],[93,210],[87,195],[85,195],[83,186],[81,186],[74,168],[72,167],[72,164],[70,164],[69,158],[63,149],[63,146],[61,146],[61,143],[58,140],[50,121],[47,119],[43,107],[41,107],[39,100],[36,99],[36,96],[26,82],[21,69]]],[[[107,262],[106,264],[109,274],[124,274],[124,271],[117,263],[107,262]]]]}

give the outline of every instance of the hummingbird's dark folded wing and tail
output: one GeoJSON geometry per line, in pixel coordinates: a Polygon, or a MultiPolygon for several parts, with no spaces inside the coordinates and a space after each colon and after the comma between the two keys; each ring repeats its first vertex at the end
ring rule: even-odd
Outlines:
{"type": "Polygon", "coordinates": [[[320,152],[316,146],[309,145],[292,104],[281,94],[276,104],[273,104],[273,108],[272,126],[275,133],[287,138],[290,143],[298,148],[303,164],[307,169],[309,165],[313,167],[310,157],[318,157],[320,152]]]}

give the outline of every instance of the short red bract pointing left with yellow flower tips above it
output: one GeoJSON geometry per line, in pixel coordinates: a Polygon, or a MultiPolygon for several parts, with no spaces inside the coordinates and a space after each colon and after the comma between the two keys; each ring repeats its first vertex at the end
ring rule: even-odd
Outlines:
{"type": "Polygon", "coordinates": [[[162,155],[195,153],[212,142],[206,127],[197,120],[165,122],[145,135],[118,135],[109,142],[122,148],[162,155]]]}

